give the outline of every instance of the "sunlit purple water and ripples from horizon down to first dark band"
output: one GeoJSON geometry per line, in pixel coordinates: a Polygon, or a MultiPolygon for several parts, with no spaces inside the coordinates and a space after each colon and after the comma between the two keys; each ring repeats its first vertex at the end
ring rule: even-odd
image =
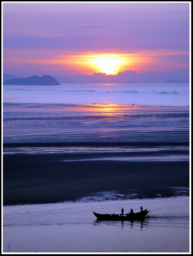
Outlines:
{"type": "Polygon", "coordinates": [[[189,83],[3,88],[4,143],[189,141],[189,83]]]}

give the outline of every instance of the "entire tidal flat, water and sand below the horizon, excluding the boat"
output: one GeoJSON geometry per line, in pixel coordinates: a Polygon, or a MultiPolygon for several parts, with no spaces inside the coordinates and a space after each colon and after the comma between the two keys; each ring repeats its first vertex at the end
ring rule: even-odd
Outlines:
{"type": "Polygon", "coordinates": [[[4,252],[188,252],[189,85],[70,86],[4,87],[4,252]]]}

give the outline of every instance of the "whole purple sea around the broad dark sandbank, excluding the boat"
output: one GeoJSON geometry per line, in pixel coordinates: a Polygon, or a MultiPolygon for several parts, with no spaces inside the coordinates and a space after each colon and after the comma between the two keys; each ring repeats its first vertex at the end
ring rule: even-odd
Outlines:
{"type": "MultiPolygon", "coordinates": [[[[189,83],[4,85],[3,143],[3,156],[13,159],[185,166],[189,83]]],[[[73,200],[6,204],[3,252],[188,253],[189,182],[169,186],[166,177],[162,190],[158,183],[148,193],[90,188],[73,200]],[[138,212],[141,205],[150,210],[144,221],[100,221],[93,215],[120,214],[122,207],[138,212]]]]}

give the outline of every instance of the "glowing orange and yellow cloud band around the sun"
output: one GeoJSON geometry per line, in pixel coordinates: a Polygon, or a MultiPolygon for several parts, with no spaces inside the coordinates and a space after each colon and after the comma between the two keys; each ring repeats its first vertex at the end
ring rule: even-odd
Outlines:
{"type": "Polygon", "coordinates": [[[189,56],[185,51],[150,50],[133,53],[65,53],[55,52],[53,56],[44,58],[30,58],[23,56],[6,58],[5,62],[31,63],[52,66],[54,70],[66,70],[69,73],[74,70],[82,75],[92,75],[94,72],[106,74],[117,74],[119,71],[135,70],[138,73],[144,71],[171,70],[174,68],[188,66],[189,62],[175,62],[174,57],[189,56]]]}

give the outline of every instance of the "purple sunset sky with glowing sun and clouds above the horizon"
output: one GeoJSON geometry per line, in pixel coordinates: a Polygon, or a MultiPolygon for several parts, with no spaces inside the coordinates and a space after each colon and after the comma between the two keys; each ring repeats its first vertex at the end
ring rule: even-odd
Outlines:
{"type": "Polygon", "coordinates": [[[60,82],[188,82],[189,2],[4,2],[3,72],[60,82]]]}

